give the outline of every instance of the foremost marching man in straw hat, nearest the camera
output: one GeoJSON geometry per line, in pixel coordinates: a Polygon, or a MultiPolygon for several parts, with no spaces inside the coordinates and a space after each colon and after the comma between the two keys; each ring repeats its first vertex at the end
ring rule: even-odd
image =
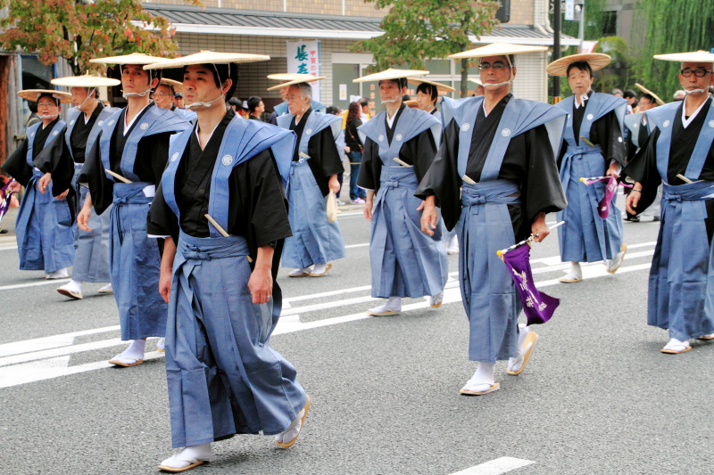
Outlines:
{"type": "Polygon", "coordinates": [[[290,235],[283,183],[295,133],[226,109],[237,63],[269,59],[202,52],[146,66],[182,68],[198,115],[171,143],[149,213],[149,232],[166,236],[171,438],[185,447],[159,465],[165,471],[209,461],[211,443],[234,434],[262,431],[292,446],[310,406],[295,367],[268,343],[280,314],[274,281],[290,235]]]}

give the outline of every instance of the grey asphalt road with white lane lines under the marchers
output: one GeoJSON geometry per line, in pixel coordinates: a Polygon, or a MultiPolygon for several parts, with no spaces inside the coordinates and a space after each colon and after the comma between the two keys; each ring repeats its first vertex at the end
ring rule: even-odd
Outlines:
{"type": "MultiPolygon", "coordinates": [[[[288,279],[282,269],[278,278],[289,307],[271,343],[312,397],[300,439],[281,450],[268,437],[231,438],[191,473],[511,470],[467,471],[501,457],[528,461],[519,475],[713,471],[714,348],[695,341],[663,355],[667,333],[646,325],[657,223],[626,223],[619,273],[586,266],[577,284],[557,283],[567,265],[554,235],[536,245],[535,280],[560,307],[535,328],[527,370],[509,376],[500,362],[501,390],[483,397],[458,392],[475,366],[455,281],[441,308],[407,299],[399,316],[368,317],[369,224],[345,209],[340,225],[347,257],[327,275],[288,279]]],[[[95,293],[101,284],[70,301],[41,272],[16,270],[17,250],[0,258],[0,473],[158,473],[171,448],[155,343],[145,364],[107,367],[125,344],[112,296],[95,293]]]]}

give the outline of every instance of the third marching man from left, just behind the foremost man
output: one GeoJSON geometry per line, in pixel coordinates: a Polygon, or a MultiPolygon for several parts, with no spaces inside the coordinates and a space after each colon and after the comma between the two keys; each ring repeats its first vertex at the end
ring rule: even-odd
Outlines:
{"type": "MultiPolygon", "coordinates": [[[[121,340],[133,341],[110,363],[134,366],[144,362],[145,339],[162,338],[166,328],[166,303],[156,291],[161,254],[156,241],[146,235],[147,205],[154,199],[156,184],[169,160],[170,135],[190,124],[175,112],[159,109],[150,99],[161,75],[145,71],[143,66],[161,58],[133,53],[91,61],[120,66],[127,107],[104,120],[87,152],[78,182],[88,186],[91,201],[84,203],[77,222],[79,229],[91,231],[92,206],[102,215],[113,202],[110,276],[119,307],[121,340]]],[[[159,340],[158,348],[162,350],[162,346],[159,340]]]]}

